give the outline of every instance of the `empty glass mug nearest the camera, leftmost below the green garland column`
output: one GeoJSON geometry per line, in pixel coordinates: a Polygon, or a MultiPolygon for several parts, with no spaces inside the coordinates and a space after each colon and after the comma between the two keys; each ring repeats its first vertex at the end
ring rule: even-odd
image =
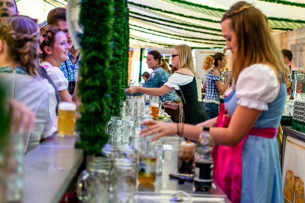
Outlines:
{"type": "Polygon", "coordinates": [[[83,202],[108,203],[111,160],[95,157],[77,180],[77,197],[83,202]]]}

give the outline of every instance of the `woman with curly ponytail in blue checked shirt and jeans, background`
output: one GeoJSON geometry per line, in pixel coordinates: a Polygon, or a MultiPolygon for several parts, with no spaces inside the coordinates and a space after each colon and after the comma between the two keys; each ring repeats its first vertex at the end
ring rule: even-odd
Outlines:
{"type": "Polygon", "coordinates": [[[220,93],[224,93],[228,88],[231,75],[225,84],[222,84],[220,70],[225,67],[227,57],[223,53],[216,53],[205,58],[202,68],[207,72],[203,88],[205,88],[205,97],[203,99],[203,107],[206,111],[208,119],[215,118],[219,114],[220,93]]]}

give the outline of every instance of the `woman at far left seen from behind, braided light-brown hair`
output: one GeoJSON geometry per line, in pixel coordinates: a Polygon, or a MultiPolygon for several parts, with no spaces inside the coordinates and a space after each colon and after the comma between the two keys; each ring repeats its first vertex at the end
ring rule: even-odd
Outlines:
{"type": "Polygon", "coordinates": [[[32,18],[11,16],[0,23],[0,81],[8,98],[19,100],[35,113],[34,129],[30,135],[24,134],[31,136],[28,149],[56,131],[55,90],[37,73],[38,41],[37,21],[32,18]]]}

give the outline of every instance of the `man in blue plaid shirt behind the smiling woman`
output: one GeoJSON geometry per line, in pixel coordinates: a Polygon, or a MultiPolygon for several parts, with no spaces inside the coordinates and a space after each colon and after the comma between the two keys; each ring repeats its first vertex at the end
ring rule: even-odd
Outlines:
{"type": "Polygon", "coordinates": [[[47,21],[39,24],[39,27],[46,25],[57,26],[63,30],[67,37],[67,42],[70,46],[69,58],[70,60],[64,61],[60,66],[60,70],[64,73],[65,77],[69,82],[68,90],[71,96],[74,93],[75,84],[78,78],[78,70],[80,67],[81,54],[78,50],[73,48],[73,42],[68,31],[68,24],[66,21],[66,9],[65,8],[55,8],[52,9],[47,17],[47,21]]]}

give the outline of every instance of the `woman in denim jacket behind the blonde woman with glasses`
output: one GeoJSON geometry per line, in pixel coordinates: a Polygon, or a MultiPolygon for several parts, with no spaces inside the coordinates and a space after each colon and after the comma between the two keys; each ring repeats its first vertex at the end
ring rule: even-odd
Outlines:
{"type": "MultiPolygon", "coordinates": [[[[146,63],[148,69],[152,69],[153,73],[150,74],[148,80],[143,84],[142,87],[162,87],[170,77],[170,70],[168,69],[167,63],[162,59],[159,51],[150,51],[146,56],[146,63]],[[161,67],[161,69],[160,69],[161,67]]],[[[127,95],[143,95],[143,93],[129,93],[127,95]]],[[[175,94],[173,90],[167,92],[166,94],[160,96],[162,103],[164,101],[174,101],[174,103],[181,103],[180,98],[175,94]]],[[[179,122],[179,110],[173,110],[171,108],[165,108],[165,112],[170,115],[173,122],[179,122]]]]}

